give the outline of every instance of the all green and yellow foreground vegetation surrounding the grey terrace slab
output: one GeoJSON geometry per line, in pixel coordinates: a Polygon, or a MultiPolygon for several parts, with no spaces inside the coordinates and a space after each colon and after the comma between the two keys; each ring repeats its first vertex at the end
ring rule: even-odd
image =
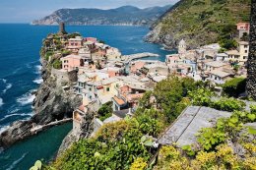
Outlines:
{"type": "MultiPolygon", "coordinates": [[[[256,120],[256,106],[246,112],[244,103],[235,98],[214,100],[214,93],[205,86],[191,79],[169,77],[145,93],[133,118],[103,125],[94,138],[75,142],[46,169],[146,170],[156,153],[153,138],[158,138],[190,104],[233,111],[233,115],[218,120],[212,128],[202,129],[197,147],[163,146],[154,169],[253,169],[256,141],[249,136],[255,130],[246,131],[242,125],[256,120]],[[237,156],[227,142],[242,145],[245,157],[237,156]]],[[[110,105],[103,105],[98,115],[110,113],[110,105]]]]}

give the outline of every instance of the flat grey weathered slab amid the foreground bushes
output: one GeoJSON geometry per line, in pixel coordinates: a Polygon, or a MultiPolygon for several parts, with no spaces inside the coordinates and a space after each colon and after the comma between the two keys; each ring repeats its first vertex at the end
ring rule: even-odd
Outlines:
{"type": "Polygon", "coordinates": [[[196,134],[202,128],[215,125],[222,117],[230,117],[231,113],[208,107],[187,107],[177,120],[160,137],[162,145],[177,143],[179,146],[196,142],[196,134]]]}

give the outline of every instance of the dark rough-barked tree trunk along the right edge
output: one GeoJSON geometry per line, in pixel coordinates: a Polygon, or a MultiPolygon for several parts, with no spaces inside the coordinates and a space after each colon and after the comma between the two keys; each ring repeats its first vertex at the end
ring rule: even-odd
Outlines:
{"type": "Polygon", "coordinates": [[[250,50],[248,57],[248,96],[256,100],[256,0],[251,1],[250,50]]]}

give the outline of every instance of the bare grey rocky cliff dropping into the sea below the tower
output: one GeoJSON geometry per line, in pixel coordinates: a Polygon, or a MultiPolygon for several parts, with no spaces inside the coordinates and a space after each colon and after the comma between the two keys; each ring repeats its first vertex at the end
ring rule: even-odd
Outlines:
{"type": "MultiPolygon", "coordinates": [[[[42,47],[43,48],[43,47],[42,47]]],[[[41,76],[43,83],[36,92],[33,101],[34,115],[28,121],[18,121],[0,135],[0,147],[8,147],[14,142],[32,136],[32,127],[45,125],[65,117],[72,117],[72,112],[80,106],[82,98],[72,92],[72,88],[64,90],[56,75],[52,75],[52,61],[41,56],[41,76]]],[[[67,82],[72,85],[72,82],[67,82]]]]}

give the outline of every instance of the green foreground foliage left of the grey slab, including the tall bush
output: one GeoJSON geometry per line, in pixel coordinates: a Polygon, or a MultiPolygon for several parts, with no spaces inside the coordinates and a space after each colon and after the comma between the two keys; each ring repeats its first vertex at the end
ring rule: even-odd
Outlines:
{"type": "MultiPolygon", "coordinates": [[[[94,139],[76,142],[51,166],[62,170],[114,170],[129,169],[133,164],[136,169],[136,162],[142,159],[149,161],[155,151],[152,149],[153,141],[145,135],[157,138],[189,103],[188,98],[183,98],[188,95],[188,89],[197,87],[193,80],[177,77],[170,77],[160,85],[153,92],[146,92],[142,99],[146,102],[148,98],[156,98],[156,104],[148,102],[146,107],[140,104],[134,118],[103,125],[94,139]]],[[[110,110],[109,105],[104,105],[98,114],[105,115],[110,110]]],[[[142,165],[144,167],[145,163],[142,165]]]]}

